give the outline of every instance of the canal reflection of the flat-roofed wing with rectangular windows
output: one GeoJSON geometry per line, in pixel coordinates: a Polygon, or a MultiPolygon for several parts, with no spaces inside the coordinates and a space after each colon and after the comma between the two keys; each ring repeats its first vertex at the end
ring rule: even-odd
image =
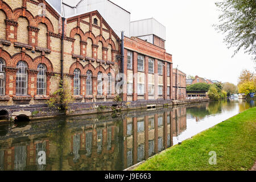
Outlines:
{"type": "Polygon", "coordinates": [[[128,114],[123,120],[124,167],[149,158],[171,147],[172,138],[187,126],[186,108],[152,110],[141,114],[128,114]]]}

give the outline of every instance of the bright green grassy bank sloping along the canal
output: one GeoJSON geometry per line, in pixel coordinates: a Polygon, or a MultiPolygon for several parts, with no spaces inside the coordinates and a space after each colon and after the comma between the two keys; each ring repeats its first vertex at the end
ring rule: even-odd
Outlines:
{"type": "Polygon", "coordinates": [[[155,155],[135,170],[249,170],[256,160],[256,107],[155,155]],[[209,152],[217,164],[209,164],[209,152]]]}

